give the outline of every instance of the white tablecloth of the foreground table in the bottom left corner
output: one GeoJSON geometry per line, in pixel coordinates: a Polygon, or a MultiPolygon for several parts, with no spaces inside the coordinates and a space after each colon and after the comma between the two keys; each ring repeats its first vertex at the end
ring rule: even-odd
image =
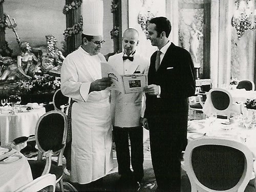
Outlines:
{"type": "MultiPolygon", "coordinates": [[[[12,150],[9,153],[17,152],[12,150]]],[[[33,180],[28,160],[24,155],[17,152],[17,156],[22,157],[19,160],[6,164],[0,162],[0,191],[14,191],[19,187],[33,180]]]]}

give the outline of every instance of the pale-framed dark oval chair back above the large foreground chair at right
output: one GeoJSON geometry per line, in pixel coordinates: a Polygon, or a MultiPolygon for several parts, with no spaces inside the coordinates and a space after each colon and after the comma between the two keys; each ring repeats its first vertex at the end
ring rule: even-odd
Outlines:
{"type": "Polygon", "coordinates": [[[207,97],[217,114],[230,116],[233,99],[227,90],[212,88],[208,92],[207,97]]]}

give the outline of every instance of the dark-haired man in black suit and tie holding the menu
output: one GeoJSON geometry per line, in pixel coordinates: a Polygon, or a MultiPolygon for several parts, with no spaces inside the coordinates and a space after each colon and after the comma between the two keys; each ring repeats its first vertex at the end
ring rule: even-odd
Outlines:
{"type": "Polygon", "coordinates": [[[188,51],[168,40],[165,17],[150,20],[151,56],[142,124],[150,131],[151,157],[158,191],[180,191],[180,157],[187,145],[188,97],[195,94],[194,65],[188,51]]]}

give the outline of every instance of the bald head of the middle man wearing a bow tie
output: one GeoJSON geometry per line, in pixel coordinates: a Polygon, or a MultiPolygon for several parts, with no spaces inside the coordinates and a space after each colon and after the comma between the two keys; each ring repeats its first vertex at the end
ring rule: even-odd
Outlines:
{"type": "Polygon", "coordinates": [[[133,53],[133,51],[139,44],[138,31],[134,28],[126,29],[123,32],[122,44],[123,50],[126,53],[126,55],[129,56],[131,53],[133,53]]]}

